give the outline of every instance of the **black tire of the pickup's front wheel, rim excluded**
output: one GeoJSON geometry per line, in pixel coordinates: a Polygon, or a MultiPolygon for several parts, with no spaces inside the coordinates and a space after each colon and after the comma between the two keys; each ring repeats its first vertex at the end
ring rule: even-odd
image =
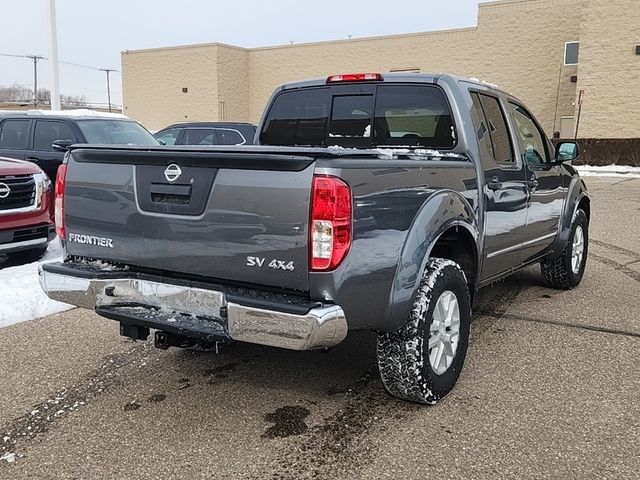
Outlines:
{"type": "Polygon", "coordinates": [[[569,239],[564,250],[559,257],[553,260],[543,260],[540,263],[542,279],[544,284],[550,288],[559,290],[571,290],[577,287],[582,281],[585,268],[587,266],[587,256],[589,253],[589,220],[583,210],[578,210],[571,224],[569,239]],[[573,241],[576,230],[580,227],[583,232],[584,250],[582,261],[577,272],[574,272],[571,261],[573,255],[573,241]]]}

